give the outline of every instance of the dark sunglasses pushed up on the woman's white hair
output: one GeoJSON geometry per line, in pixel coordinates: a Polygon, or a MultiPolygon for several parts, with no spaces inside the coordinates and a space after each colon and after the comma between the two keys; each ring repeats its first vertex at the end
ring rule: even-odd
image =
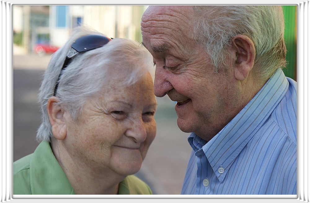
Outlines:
{"type": "Polygon", "coordinates": [[[62,66],[60,70],[60,74],[58,76],[56,86],[54,88],[54,96],[56,95],[58,83],[60,79],[60,75],[62,73],[62,70],[64,70],[69,62],[72,60],[74,56],[76,56],[79,53],[88,52],[90,50],[99,48],[107,44],[111,39],[102,35],[86,35],[78,38],[71,44],[71,49],[69,50],[69,53],[67,54],[66,60],[64,61],[64,65],[62,66]]]}

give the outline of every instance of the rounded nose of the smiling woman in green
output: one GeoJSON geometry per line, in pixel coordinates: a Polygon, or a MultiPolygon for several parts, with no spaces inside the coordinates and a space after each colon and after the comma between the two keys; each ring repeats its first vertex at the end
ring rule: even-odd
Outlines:
{"type": "Polygon", "coordinates": [[[126,131],[125,135],[127,137],[132,137],[135,142],[144,142],[147,136],[147,132],[142,117],[133,121],[130,128],[126,131]]]}

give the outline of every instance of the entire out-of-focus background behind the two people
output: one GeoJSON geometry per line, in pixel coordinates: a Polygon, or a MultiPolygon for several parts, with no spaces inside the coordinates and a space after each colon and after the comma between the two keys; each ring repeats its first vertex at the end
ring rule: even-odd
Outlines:
{"type": "MultiPolygon", "coordinates": [[[[297,6],[282,6],[288,66],[286,76],[297,80],[297,6]]],[[[69,38],[73,27],[88,25],[108,37],[142,41],[141,16],[147,6],[13,5],[13,161],[33,153],[40,125],[38,89],[51,54],[69,38]]],[[[157,98],[157,135],[136,174],[154,194],[180,194],[191,151],[188,133],[176,124],[175,103],[157,98]]]]}

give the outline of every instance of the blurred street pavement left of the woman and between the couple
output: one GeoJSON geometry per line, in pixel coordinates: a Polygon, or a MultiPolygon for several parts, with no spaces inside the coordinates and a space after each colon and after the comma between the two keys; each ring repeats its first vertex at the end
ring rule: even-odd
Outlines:
{"type": "MultiPolygon", "coordinates": [[[[33,153],[40,125],[38,89],[50,55],[13,56],[13,161],[33,153]]],[[[188,133],[179,130],[173,103],[157,98],[157,135],[136,174],[154,194],[180,194],[191,148],[188,133]]]]}

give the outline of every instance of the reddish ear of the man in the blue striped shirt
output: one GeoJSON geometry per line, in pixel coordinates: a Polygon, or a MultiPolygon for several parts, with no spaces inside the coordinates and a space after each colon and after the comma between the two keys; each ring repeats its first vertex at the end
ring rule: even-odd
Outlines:
{"type": "Polygon", "coordinates": [[[255,45],[246,35],[237,35],[232,39],[233,51],[236,55],[234,75],[237,80],[245,80],[254,66],[255,45]]]}

